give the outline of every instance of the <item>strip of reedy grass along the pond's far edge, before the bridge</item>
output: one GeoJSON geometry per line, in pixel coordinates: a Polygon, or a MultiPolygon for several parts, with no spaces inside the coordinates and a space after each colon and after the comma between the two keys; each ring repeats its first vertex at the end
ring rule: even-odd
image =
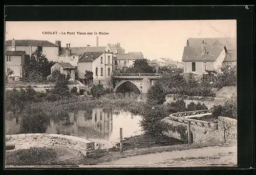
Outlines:
{"type": "Polygon", "coordinates": [[[107,94],[99,98],[79,97],[66,98],[58,101],[31,102],[26,105],[25,113],[42,113],[47,116],[58,117],[68,112],[77,110],[86,110],[95,107],[101,107],[103,110],[123,110],[132,114],[139,114],[140,109],[145,104],[138,101],[136,94],[107,94]]]}

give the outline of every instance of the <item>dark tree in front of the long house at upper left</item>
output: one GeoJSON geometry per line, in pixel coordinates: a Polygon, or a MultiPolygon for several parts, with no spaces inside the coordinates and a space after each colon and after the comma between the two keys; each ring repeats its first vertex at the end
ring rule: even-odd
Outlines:
{"type": "Polygon", "coordinates": [[[33,71],[46,78],[51,73],[51,67],[55,64],[48,61],[45,54],[36,49],[30,56],[27,65],[24,68],[25,76],[28,77],[33,71]]]}

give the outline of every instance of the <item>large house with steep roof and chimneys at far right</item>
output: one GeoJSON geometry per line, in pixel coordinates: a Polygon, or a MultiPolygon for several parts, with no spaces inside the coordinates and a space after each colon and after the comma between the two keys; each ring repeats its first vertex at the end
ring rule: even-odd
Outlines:
{"type": "Polygon", "coordinates": [[[218,69],[223,62],[236,63],[235,46],[232,38],[189,38],[182,57],[184,74],[207,74],[206,70],[218,69]]]}

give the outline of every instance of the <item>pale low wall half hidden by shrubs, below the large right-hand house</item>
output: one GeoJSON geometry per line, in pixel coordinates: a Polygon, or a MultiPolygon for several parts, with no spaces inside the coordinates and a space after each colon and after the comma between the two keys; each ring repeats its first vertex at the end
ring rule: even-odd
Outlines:
{"type": "Polygon", "coordinates": [[[217,98],[217,97],[199,97],[199,96],[187,96],[187,95],[177,95],[177,94],[168,94],[165,97],[165,103],[175,102],[176,100],[184,100],[187,104],[201,103],[205,104],[208,108],[212,108],[214,105],[224,105],[226,99],[225,98],[217,98]]]}

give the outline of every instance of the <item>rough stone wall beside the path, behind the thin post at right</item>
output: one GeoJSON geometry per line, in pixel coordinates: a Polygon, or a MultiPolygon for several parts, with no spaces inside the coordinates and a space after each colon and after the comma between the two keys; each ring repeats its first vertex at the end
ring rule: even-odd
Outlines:
{"type": "MultiPolygon", "coordinates": [[[[164,135],[173,137],[187,143],[186,123],[163,119],[168,124],[164,135]]],[[[218,117],[218,128],[207,126],[190,125],[193,143],[208,143],[237,140],[237,120],[228,117],[218,117]]]]}

